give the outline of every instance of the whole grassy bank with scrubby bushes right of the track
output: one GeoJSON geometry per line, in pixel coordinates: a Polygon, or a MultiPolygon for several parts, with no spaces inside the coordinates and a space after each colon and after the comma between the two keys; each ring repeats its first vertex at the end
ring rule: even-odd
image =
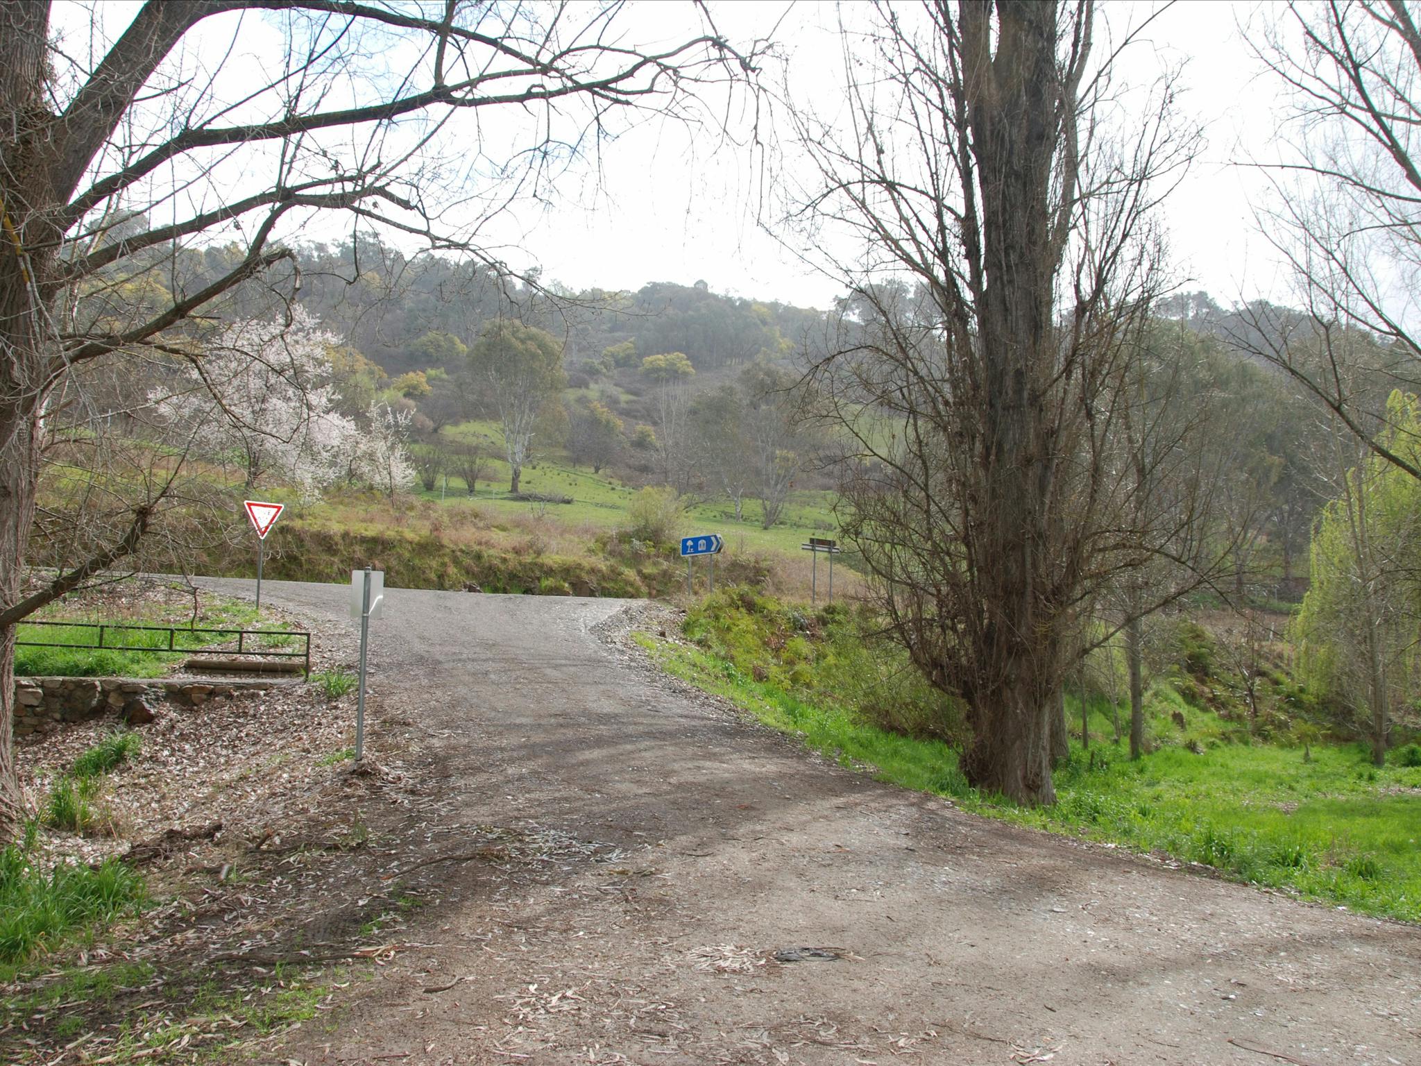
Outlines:
{"type": "Polygon", "coordinates": [[[1100,694],[1087,695],[1087,749],[1070,694],[1071,753],[1056,772],[1059,802],[1022,809],[966,785],[959,711],[915,681],[902,652],[870,635],[868,621],[728,590],[689,613],[684,641],[644,644],[678,677],[882,780],[990,817],[1421,921],[1421,748],[1394,750],[1391,765],[1376,769],[1364,745],[1333,738],[1304,746],[1277,721],[1272,739],[1260,739],[1221,696],[1232,685],[1225,668],[1191,672],[1201,644],[1194,627],[1150,688],[1148,753],[1130,760],[1100,694]]]}

